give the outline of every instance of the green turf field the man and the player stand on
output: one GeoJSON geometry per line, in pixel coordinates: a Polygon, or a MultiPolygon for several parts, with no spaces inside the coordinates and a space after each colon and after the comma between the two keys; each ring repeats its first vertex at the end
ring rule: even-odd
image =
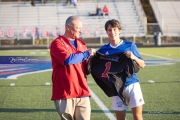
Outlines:
{"type": "MultiPolygon", "coordinates": [[[[138,72],[145,100],[144,120],[180,119],[180,48],[139,48],[145,60],[167,60],[169,64],[146,66],[138,72]],[[150,83],[153,80],[155,83],[150,83]]],[[[0,56],[49,56],[49,50],[8,50],[0,56]]],[[[161,61],[160,61],[161,62],[161,61]]],[[[162,62],[161,62],[162,63],[162,62]]],[[[16,80],[0,79],[0,120],[59,120],[51,98],[51,71],[23,75],[16,80]],[[10,83],[15,83],[10,87],[10,83]]],[[[91,120],[114,116],[108,98],[88,76],[88,85],[99,101],[91,97],[91,120]],[[107,109],[101,109],[103,104],[107,109]]],[[[127,111],[127,120],[132,113],[127,111]]]]}

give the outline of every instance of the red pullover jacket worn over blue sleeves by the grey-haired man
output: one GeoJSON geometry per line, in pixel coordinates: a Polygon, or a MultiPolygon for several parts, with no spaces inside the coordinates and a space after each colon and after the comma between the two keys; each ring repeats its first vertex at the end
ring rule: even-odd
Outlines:
{"type": "Polygon", "coordinates": [[[77,49],[63,36],[59,36],[51,43],[50,55],[53,68],[51,100],[90,96],[86,78],[88,61],[71,65],[64,64],[71,53],[87,50],[82,40],[76,39],[76,41],[77,49]]]}

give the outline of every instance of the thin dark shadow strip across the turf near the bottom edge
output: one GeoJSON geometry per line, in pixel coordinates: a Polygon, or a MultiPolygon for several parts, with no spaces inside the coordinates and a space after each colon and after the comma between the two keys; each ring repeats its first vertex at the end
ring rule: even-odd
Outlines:
{"type": "MultiPolygon", "coordinates": [[[[17,113],[29,113],[29,112],[56,112],[56,109],[31,109],[31,108],[0,108],[0,112],[17,112],[17,113]]],[[[114,113],[113,110],[91,110],[91,113],[114,113]]],[[[132,113],[127,111],[127,113],[132,113]]],[[[180,114],[178,112],[171,111],[143,111],[143,114],[180,114]]]]}

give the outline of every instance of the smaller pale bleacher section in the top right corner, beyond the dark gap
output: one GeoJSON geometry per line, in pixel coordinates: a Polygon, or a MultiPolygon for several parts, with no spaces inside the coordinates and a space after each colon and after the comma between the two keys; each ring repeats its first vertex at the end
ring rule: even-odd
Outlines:
{"type": "Polygon", "coordinates": [[[164,36],[180,36],[180,1],[151,0],[164,36]]]}

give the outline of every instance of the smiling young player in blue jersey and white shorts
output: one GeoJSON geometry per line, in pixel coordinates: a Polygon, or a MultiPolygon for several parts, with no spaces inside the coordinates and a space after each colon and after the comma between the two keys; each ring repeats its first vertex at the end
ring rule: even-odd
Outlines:
{"type": "MultiPolygon", "coordinates": [[[[144,60],[139,54],[136,45],[133,42],[120,39],[121,25],[117,20],[108,20],[105,23],[105,30],[109,37],[109,43],[98,50],[100,53],[111,55],[123,52],[126,57],[134,60],[140,68],[145,67],[144,60]]],[[[144,99],[136,73],[133,73],[132,77],[126,78],[124,92],[130,98],[128,104],[132,109],[134,120],[142,120],[142,105],[144,104],[144,99]]],[[[119,96],[112,97],[112,109],[116,113],[117,120],[126,119],[128,106],[124,105],[119,96]]]]}

